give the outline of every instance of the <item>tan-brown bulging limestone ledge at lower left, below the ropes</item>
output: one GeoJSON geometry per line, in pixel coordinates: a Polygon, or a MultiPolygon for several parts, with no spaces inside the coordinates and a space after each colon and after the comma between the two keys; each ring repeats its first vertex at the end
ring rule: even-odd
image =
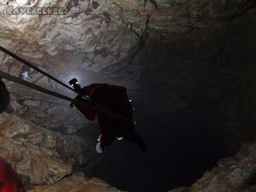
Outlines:
{"type": "Polygon", "coordinates": [[[61,135],[5,112],[0,117],[0,155],[31,184],[53,184],[70,174],[75,163],[86,164],[91,158],[89,140],[61,135]]]}

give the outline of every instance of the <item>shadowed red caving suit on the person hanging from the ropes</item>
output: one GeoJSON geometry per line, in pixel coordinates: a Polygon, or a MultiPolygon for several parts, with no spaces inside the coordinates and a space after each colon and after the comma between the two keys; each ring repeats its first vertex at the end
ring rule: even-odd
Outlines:
{"type": "MultiPolygon", "coordinates": [[[[125,87],[98,83],[90,84],[82,88],[80,92],[110,110],[111,113],[132,119],[132,112],[130,110],[132,107],[128,101],[125,87]]],[[[81,96],[78,96],[77,99],[90,104],[90,101],[81,98],[81,96]]],[[[87,119],[92,121],[95,119],[96,113],[94,110],[82,105],[76,105],[76,107],[87,119]]],[[[110,145],[117,135],[137,145],[141,141],[140,135],[135,131],[131,120],[109,117],[107,114],[99,112],[98,121],[101,131],[100,143],[103,145],[110,145]]]]}

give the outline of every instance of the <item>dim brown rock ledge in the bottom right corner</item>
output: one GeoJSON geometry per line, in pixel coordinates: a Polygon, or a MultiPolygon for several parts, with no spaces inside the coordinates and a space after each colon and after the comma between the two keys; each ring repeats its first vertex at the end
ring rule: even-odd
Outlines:
{"type": "Polygon", "coordinates": [[[191,187],[175,188],[168,192],[188,191],[246,191],[256,189],[256,142],[246,143],[234,157],[218,161],[218,167],[204,173],[191,187]]]}

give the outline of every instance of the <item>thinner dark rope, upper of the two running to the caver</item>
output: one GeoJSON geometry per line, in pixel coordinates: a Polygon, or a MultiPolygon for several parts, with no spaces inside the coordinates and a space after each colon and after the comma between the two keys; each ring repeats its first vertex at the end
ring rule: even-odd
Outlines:
{"type": "Polygon", "coordinates": [[[91,101],[92,103],[98,105],[99,107],[101,107],[101,108],[103,108],[103,109],[106,109],[106,108],[102,107],[100,104],[98,104],[98,103],[92,101],[90,98],[86,97],[86,96],[83,95],[82,93],[76,91],[75,89],[72,89],[72,88],[69,87],[68,85],[62,83],[62,82],[59,81],[58,79],[56,79],[56,78],[54,78],[53,76],[49,75],[48,73],[45,73],[43,70],[41,70],[41,69],[37,68],[36,66],[32,65],[32,64],[29,63],[28,61],[22,59],[22,58],[19,57],[18,55],[15,55],[14,53],[8,51],[8,50],[5,49],[4,47],[0,46],[0,51],[6,53],[7,55],[9,55],[9,56],[11,56],[11,57],[13,57],[14,59],[20,61],[21,63],[23,63],[23,64],[25,64],[25,65],[27,65],[28,67],[35,69],[35,70],[38,71],[39,73],[42,73],[44,76],[49,77],[49,78],[52,79],[53,81],[55,81],[55,82],[57,82],[57,83],[63,85],[64,87],[70,89],[71,91],[76,92],[78,95],[81,95],[82,97],[84,97],[84,98],[86,98],[87,100],[91,101]]]}

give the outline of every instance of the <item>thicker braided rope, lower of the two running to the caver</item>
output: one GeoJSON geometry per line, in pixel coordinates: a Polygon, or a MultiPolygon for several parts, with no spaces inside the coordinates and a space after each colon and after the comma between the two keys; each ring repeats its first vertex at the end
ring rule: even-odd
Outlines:
{"type": "Polygon", "coordinates": [[[100,111],[100,112],[103,112],[103,113],[106,113],[107,115],[109,116],[115,116],[115,117],[119,117],[119,118],[123,118],[123,119],[126,119],[126,120],[130,120],[132,121],[132,119],[129,119],[129,118],[126,118],[126,117],[123,117],[123,116],[119,116],[119,115],[116,115],[114,113],[111,113],[111,112],[108,112],[107,110],[104,110],[104,109],[100,109],[100,108],[97,108],[97,107],[94,107],[92,105],[89,105],[89,104],[86,104],[82,101],[79,101],[79,100],[74,100],[74,99],[71,99],[65,95],[62,95],[60,93],[57,93],[57,92],[53,92],[53,91],[50,91],[50,90],[47,90],[47,89],[44,89],[43,87],[40,87],[36,84],[33,84],[33,83],[30,83],[28,81],[25,81],[19,77],[15,77],[15,76],[12,76],[10,74],[7,74],[3,71],[0,70],[0,77],[4,78],[4,79],[7,79],[9,81],[13,81],[15,83],[19,83],[19,84],[22,84],[22,85],[25,85],[27,87],[30,87],[32,89],[35,89],[37,91],[40,91],[40,92],[43,92],[45,94],[48,94],[48,95],[52,95],[54,97],[58,97],[60,99],[64,99],[64,100],[67,100],[67,101],[70,101],[70,102],[73,102],[73,103],[76,103],[76,104],[79,104],[79,105],[83,105],[85,107],[88,107],[88,108],[91,108],[91,109],[94,109],[96,111],[100,111]]]}

